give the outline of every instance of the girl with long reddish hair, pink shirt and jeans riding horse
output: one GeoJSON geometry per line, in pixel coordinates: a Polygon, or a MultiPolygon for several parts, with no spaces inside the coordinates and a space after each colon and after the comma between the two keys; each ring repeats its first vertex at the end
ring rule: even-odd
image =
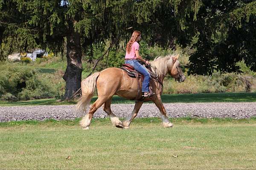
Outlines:
{"type": "Polygon", "coordinates": [[[143,59],[139,54],[139,41],[141,39],[140,31],[134,31],[132,33],[131,39],[126,45],[126,54],[125,54],[125,64],[130,64],[134,69],[144,75],[144,81],[142,83],[142,92],[144,97],[150,97],[149,93],[149,81],[150,74],[145,66],[141,65],[139,61],[150,64],[147,60],[143,59]]]}

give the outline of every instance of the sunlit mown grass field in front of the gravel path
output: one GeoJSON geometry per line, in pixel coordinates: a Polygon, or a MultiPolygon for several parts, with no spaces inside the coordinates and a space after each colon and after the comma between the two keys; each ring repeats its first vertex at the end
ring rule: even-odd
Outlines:
{"type": "Polygon", "coordinates": [[[0,123],[0,169],[256,169],[255,118],[78,121],[0,123]]]}

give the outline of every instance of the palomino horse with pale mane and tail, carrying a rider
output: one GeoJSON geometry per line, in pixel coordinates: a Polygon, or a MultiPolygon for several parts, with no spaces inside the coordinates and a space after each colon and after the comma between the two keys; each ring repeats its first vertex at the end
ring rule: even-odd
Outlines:
{"type": "MultiPolygon", "coordinates": [[[[178,80],[178,82],[185,80],[185,76],[177,60],[178,57],[179,55],[172,55],[158,58],[151,62],[151,68],[155,74],[157,74],[158,81],[151,79],[152,91],[155,94],[151,98],[145,98],[144,102],[151,100],[157,105],[157,108],[159,108],[161,112],[164,127],[172,127],[172,123],[169,122],[160,96],[163,93],[163,79],[166,77],[166,74],[170,74],[178,80]]],[[[137,79],[129,77],[128,74],[120,68],[106,68],[101,72],[92,74],[81,82],[82,96],[76,105],[77,110],[86,111],[93,97],[95,88],[98,90],[98,99],[91,105],[89,112],[80,121],[80,125],[83,129],[89,129],[93,113],[103,104],[103,110],[110,116],[113,125],[125,129],[129,128],[131,121],[137,116],[143,101],[137,101],[135,103],[134,110],[123,122],[112,113],[110,105],[112,96],[115,94],[126,99],[135,99],[137,95],[137,79]]]]}

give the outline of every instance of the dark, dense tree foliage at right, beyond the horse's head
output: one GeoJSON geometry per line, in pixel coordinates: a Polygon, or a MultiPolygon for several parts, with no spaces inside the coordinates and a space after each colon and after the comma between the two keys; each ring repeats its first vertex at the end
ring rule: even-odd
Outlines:
{"type": "Polygon", "coordinates": [[[186,34],[184,42],[198,38],[193,46],[197,50],[189,57],[189,73],[240,72],[236,63],[241,60],[256,71],[256,1],[202,0],[195,4],[188,8],[179,3],[175,8],[186,34]]]}

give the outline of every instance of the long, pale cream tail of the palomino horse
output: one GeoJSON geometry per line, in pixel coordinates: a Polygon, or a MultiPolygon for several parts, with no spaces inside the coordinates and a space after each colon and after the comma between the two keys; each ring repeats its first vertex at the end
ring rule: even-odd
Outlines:
{"type": "Polygon", "coordinates": [[[86,111],[96,89],[96,81],[100,72],[96,72],[81,82],[82,96],[76,104],[77,111],[86,111]]]}

